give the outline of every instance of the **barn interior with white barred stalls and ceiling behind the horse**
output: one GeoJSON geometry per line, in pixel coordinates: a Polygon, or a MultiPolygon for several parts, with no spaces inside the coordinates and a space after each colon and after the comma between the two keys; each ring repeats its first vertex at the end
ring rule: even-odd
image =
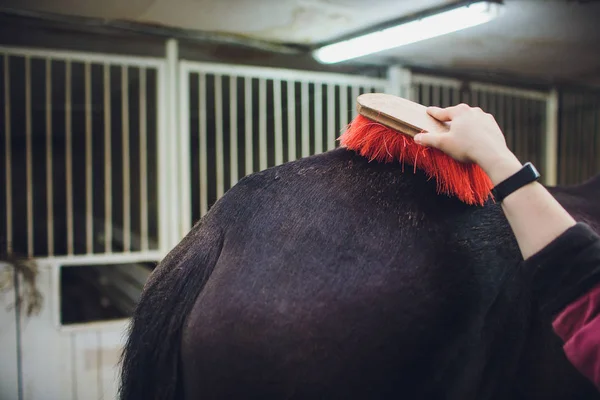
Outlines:
{"type": "Polygon", "coordinates": [[[115,398],[157,262],[243,176],[335,148],[360,93],[480,106],[544,183],[595,176],[599,19],[592,0],[1,0],[0,398],[115,398]],[[317,57],[481,3],[476,26],[317,57]]]}

